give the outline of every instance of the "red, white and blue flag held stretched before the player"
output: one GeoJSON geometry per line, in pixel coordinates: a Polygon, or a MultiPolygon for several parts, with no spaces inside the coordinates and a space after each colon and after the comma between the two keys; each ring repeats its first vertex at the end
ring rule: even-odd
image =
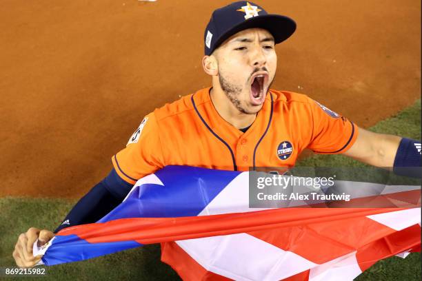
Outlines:
{"type": "Polygon", "coordinates": [[[420,186],[383,187],[383,200],[400,208],[257,209],[249,173],[165,167],[98,222],[62,229],[41,249],[34,243],[34,256],[54,265],[161,243],[161,260],[183,280],[316,281],[353,280],[378,260],[420,251],[420,186]]]}

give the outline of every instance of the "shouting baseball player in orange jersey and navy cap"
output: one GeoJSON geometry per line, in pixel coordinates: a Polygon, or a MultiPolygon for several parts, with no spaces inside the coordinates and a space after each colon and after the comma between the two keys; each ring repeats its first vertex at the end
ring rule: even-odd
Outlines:
{"type": "MultiPolygon", "coordinates": [[[[30,228],[13,252],[19,267],[30,267],[32,244],[73,225],[96,222],[145,175],[166,165],[245,171],[249,167],[292,167],[305,148],[343,154],[377,167],[421,166],[419,141],[375,134],[304,94],[272,90],[277,54],[294,21],[268,14],[252,2],[238,1],[212,13],[205,28],[203,70],[212,87],[154,110],[128,144],[112,156],[110,174],[79,200],[54,231],[30,228]]],[[[188,258],[176,243],[162,245],[162,260],[188,258]],[[185,256],[183,256],[185,255],[185,256]]],[[[190,279],[187,269],[174,268],[190,279]]]]}

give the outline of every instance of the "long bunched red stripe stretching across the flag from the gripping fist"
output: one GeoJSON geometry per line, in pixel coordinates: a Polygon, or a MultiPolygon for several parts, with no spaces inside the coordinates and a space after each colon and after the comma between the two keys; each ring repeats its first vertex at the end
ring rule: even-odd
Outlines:
{"type": "Polygon", "coordinates": [[[152,244],[280,227],[297,227],[319,222],[334,222],[399,210],[398,208],[297,208],[182,218],[124,218],[68,227],[59,231],[57,235],[74,234],[90,243],[135,240],[141,244],[152,244]]]}

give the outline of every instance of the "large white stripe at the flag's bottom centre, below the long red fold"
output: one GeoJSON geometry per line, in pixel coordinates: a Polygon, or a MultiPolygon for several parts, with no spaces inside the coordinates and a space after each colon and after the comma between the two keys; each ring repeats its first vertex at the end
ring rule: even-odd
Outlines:
{"type": "Polygon", "coordinates": [[[317,265],[246,233],[177,244],[206,270],[234,280],[280,280],[317,265]]]}

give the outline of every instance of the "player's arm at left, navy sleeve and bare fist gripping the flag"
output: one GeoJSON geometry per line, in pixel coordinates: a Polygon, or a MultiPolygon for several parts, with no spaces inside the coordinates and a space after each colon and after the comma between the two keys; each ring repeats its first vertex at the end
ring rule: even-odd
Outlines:
{"type": "Polygon", "coordinates": [[[34,257],[32,245],[38,239],[39,246],[46,244],[63,228],[97,222],[117,207],[128,195],[132,185],[122,180],[114,169],[100,183],[83,196],[72,208],[61,225],[52,232],[47,229],[31,227],[21,233],[14,247],[13,258],[19,267],[33,267],[41,257],[34,257]]]}

